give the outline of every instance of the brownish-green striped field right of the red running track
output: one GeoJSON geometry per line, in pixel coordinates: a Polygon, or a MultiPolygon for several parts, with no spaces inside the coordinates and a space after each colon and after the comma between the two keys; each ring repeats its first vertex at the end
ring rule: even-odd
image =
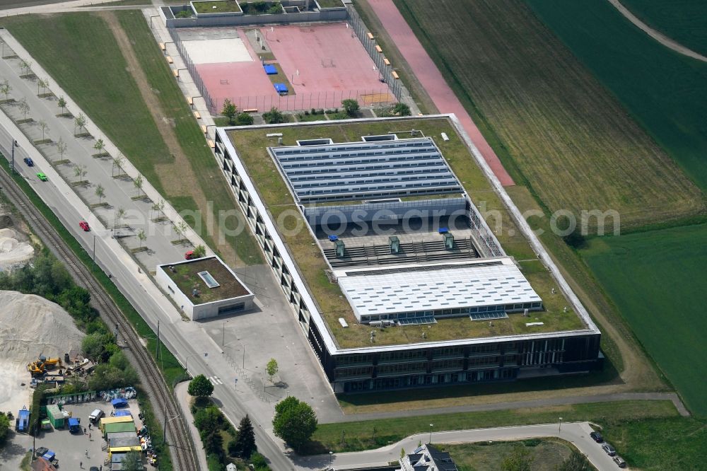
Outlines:
{"type": "Polygon", "coordinates": [[[515,180],[551,211],[614,210],[622,226],[636,227],[703,210],[699,188],[527,6],[395,4],[467,110],[496,135],[515,180]]]}

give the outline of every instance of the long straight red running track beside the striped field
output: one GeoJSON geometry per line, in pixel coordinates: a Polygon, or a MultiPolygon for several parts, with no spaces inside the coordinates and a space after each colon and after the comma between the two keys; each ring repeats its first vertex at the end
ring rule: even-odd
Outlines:
{"type": "Polygon", "coordinates": [[[515,185],[496,153],[486,142],[484,136],[479,132],[479,128],[469,116],[462,103],[457,99],[452,89],[449,88],[444,77],[437,69],[426,50],[412,32],[411,28],[402,17],[392,0],[368,0],[373,7],[376,16],[380,19],[387,33],[392,37],[408,64],[415,72],[415,76],[427,91],[433,103],[442,113],[454,113],[461,122],[464,130],[484,156],[484,160],[489,164],[496,178],[503,186],[515,185]]]}

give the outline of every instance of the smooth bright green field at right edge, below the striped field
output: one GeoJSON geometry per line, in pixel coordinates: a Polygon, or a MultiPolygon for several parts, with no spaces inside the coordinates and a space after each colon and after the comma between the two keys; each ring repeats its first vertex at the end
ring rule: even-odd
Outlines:
{"type": "Polygon", "coordinates": [[[687,407],[707,416],[707,224],[592,240],[581,253],[687,407]]]}

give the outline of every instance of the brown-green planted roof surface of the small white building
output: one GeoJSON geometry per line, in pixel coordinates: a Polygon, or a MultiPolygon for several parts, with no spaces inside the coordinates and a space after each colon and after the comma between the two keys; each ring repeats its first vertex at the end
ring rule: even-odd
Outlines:
{"type": "Polygon", "coordinates": [[[234,277],[226,265],[219,262],[216,257],[197,259],[170,266],[163,265],[162,269],[177,284],[177,288],[185,293],[195,305],[211,303],[221,299],[238,298],[248,294],[243,284],[234,277]],[[219,286],[209,288],[199,276],[200,272],[209,272],[219,286]],[[199,296],[193,296],[192,290],[197,289],[199,296]]]}

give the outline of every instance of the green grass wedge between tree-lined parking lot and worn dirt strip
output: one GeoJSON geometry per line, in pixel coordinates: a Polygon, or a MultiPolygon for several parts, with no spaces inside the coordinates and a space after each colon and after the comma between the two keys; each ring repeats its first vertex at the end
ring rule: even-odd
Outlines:
{"type": "Polygon", "coordinates": [[[91,13],[23,15],[0,23],[164,194],[155,165],[169,152],[105,21],[91,13]]]}

